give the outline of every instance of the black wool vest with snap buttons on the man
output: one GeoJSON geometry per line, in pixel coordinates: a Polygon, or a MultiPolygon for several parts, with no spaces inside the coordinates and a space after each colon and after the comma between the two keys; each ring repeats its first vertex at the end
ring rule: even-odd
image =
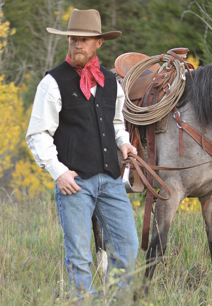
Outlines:
{"type": "Polygon", "coordinates": [[[105,77],[97,84],[96,97],[86,99],[80,89],[80,76],[67,62],[47,71],[56,80],[62,100],[54,144],[58,160],[84,179],[103,171],[114,179],[120,176],[113,118],[117,84],[114,74],[100,66],[105,77]]]}

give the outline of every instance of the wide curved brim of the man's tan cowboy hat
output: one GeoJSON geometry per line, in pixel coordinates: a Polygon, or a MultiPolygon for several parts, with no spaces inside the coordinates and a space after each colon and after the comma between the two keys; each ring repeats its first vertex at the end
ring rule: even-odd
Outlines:
{"type": "Polygon", "coordinates": [[[122,35],[122,32],[119,31],[113,31],[113,32],[107,32],[107,33],[101,33],[101,34],[97,34],[97,33],[91,33],[91,32],[80,32],[80,31],[60,31],[60,30],[56,30],[56,29],[52,29],[52,28],[46,28],[46,30],[49,33],[52,34],[58,34],[58,35],[70,35],[70,36],[101,36],[102,38],[104,38],[104,40],[112,40],[115,38],[118,38],[122,35]]]}

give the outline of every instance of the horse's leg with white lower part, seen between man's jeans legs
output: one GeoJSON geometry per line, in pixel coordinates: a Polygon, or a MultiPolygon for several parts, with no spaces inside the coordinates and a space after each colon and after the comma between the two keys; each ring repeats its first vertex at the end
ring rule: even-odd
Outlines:
{"type": "Polygon", "coordinates": [[[107,271],[106,245],[103,240],[102,231],[99,226],[97,216],[95,213],[93,213],[91,220],[92,220],[93,234],[95,238],[95,245],[96,245],[96,252],[97,252],[97,264],[98,264],[100,275],[103,276],[106,274],[106,271],[107,271]]]}

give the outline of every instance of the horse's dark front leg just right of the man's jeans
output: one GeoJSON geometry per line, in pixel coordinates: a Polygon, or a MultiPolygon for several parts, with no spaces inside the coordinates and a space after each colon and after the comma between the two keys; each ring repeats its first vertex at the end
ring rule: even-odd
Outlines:
{"type": "MultiPolygon", "coordinates": [[[[167,237],[170,224],[175,216],[179,202],[183,199],[181,186],[169,189],[172,197],[167,201],[156,200],[154,221],[152,229],[152,239],[147,251],[146,271],[145,271],[145,293],[148,294],[148,281],[151,281],[156,265],[162,260],[167,247],[167,237]]],[[[161,189],[160,195],[166,197],[166,192],[161,189]]]]}

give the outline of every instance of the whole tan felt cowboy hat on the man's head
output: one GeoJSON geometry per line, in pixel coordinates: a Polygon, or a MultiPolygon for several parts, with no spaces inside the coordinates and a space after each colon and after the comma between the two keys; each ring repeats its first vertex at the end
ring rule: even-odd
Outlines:
{"type": "Polygon", "coordinates": [[[121,32],[107,32],[101,31],[101,18],[96,10],[80,11],[74,9],[68,21],[68,29],[66,32],[46,28],[49,33],[70,36],[101,36],[104,40],[112,40],[122,35],[121,32]]]}

